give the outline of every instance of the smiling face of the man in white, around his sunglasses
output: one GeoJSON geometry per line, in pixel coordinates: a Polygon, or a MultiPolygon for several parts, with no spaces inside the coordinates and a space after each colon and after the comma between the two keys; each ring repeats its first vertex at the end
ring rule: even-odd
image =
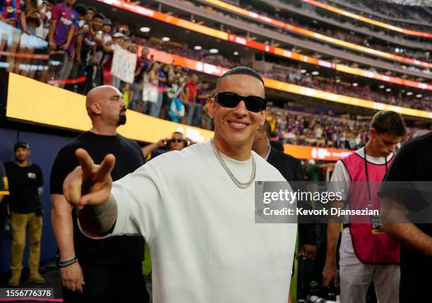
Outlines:
{"type": "MultiPolygon", "coordinates": [[[[264,85],[250,75],[228,75],[220,80],[218,92],[234,92],[239,96],[258,96],[264,98],[264,85]]],[[[215,119],[215,140],[230,146],[252,146],[253,137],[260,125],[265,122],[267,110],[253,113],[248,111],[244,101],[229,109],[210,99],[209,114],[215,119]]]]}

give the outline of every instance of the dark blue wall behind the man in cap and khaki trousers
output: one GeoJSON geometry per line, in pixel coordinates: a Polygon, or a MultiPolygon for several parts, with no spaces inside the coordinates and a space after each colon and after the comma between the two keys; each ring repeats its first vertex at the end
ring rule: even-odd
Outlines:
{"type": "MultiPolygon", "coordinates": [[[[13,144],[17,141],[25,141],[30,144],[30,161],[42,168],[44,177],[44,193],[42,206],[44,210],[41,256],[40,260],[47,261],[56,256],[57,245],[51,224],[51,201],[49,198],[49,175],[52,163],[61,147],[71,141],[70,137],[58,135],[46,135],[35,132],[23,132],[0,128],[0,161],[5,163],[13,160],[13,144]]],[[[0,272],[9,270],[11,266],[11,230],[5,230],[6,203],[0,204],[0,272]]],[[[28,265],[28,247],[25,249],[23,266],[28,265]]]]}

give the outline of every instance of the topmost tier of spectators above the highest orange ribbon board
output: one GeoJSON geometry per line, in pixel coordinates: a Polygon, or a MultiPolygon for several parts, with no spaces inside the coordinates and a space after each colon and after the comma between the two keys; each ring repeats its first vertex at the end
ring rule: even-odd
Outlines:
{"type": "MultiPolygon", "coordinates": [[[[432,18],[428,13],[422,10],[419,6],[401,6],[400,4],[392,4],[390,1],[380,1],[380,0],[361,0],[361,1],[341,1],[347,2],[351,6],[357,6],[358,10],[354,11],[354,13],[371,18],[374,20],[379,20],[384,23],[390,23],[392,25],[398,25],[402,28],[412,29],[412,30],[423,30],[425,32],[430,32],[431,27],[414,25],[411,23],[395,23],[394,20],[388,20],[386,18],[380,18],[379,16],[372,15],[367,13],[367,11],[379,13],[384,16],[388,16],[390,18],[400,18],[402,20],[424,20],[423,23],[431,23],[432,18]]],[[[332,1],[323,1],[323,3],[330,4],[335,6],[335,3],[332,1]]],[[[341,8],[345,8],[344,6],[339,6],[341,8]]],[[[346,8],[345,8],[346,9],[346,8]]],[[[352,11],[347,9],[347,11],[352,11]]]]}

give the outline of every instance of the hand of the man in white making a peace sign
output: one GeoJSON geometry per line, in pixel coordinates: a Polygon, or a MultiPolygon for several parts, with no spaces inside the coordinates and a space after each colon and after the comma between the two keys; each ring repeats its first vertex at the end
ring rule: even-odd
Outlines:
{"type": "Polygon", "coordinates": [[[107,154],[102,163],[96,165],[85,149],[77,149],[75,154],[80,166],[64,180],[64,197],[78,209],[83,209],[85,205],[96,206],[106,202],[111,192],[110,173],[116,158],[113,154],[107,154]]]}

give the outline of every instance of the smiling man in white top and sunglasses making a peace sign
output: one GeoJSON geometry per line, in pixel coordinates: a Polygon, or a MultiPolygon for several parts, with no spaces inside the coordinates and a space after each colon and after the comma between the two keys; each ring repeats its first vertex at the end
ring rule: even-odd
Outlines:
{"type": "Polygon", "coordinates": [[[255,223],[254,181],[284,181],[251,150],[264,91],[254,70],[229,70],[210,101],[210,142],[157,156],[115,183],[114,156],[97,166],[77,150],[81,166],[64,193],[81,230],[144,235],[154,302],[287,302],[297,226],[255,223]]]}

